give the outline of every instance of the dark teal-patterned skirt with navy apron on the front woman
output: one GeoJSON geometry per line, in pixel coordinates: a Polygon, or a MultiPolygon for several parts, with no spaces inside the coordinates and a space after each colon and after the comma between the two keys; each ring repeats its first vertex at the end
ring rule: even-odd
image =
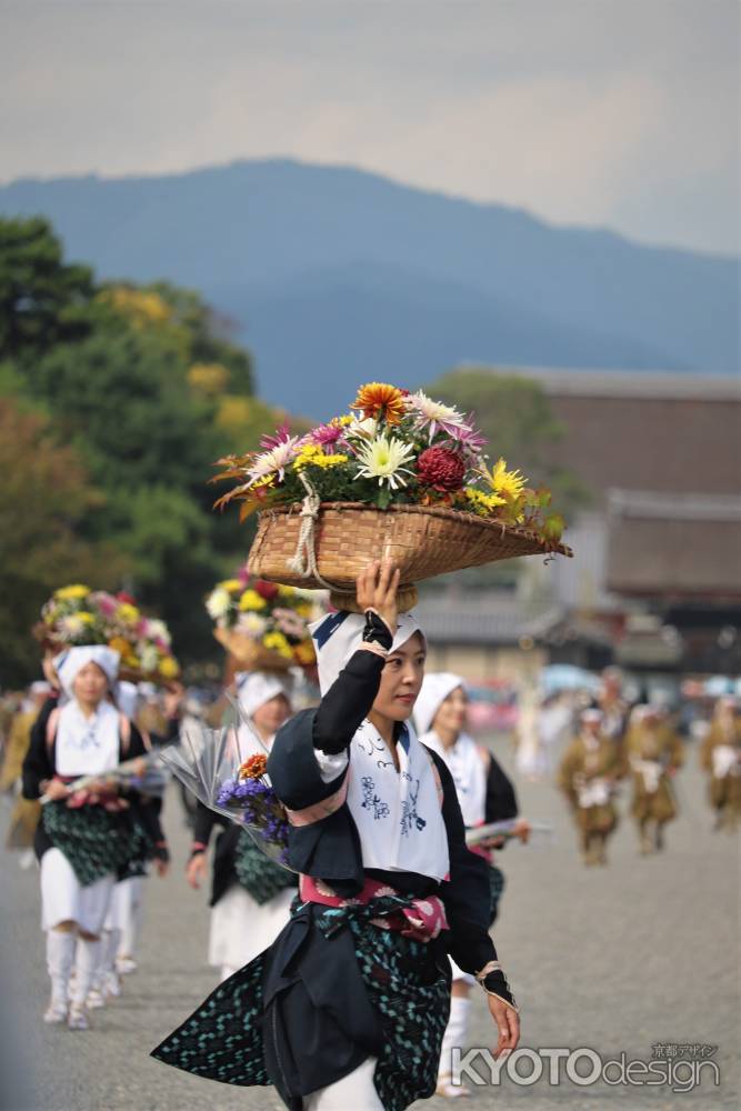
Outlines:
{"type": "Polygon", "coordinates": [[[448,1024],[450,969],[434,942],[371,924],[402,903],[404,897],[338,908],[297,900],[270,949],[220,984],[152,1057],[227,1084],[274,1084],[300,1111],[302,1094],[375,1055],[373,1082],[387,1111],[429,1098],[448,1024]],[[312,1048],[302,1055],[304,1031],[312,1048]]]}

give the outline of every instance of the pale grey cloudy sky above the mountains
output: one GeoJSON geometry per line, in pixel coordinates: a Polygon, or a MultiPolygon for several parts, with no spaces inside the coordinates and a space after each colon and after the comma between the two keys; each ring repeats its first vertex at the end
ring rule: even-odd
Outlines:
{"type": "Polygon", "coordinates": [[[0,0],[0,177],[290,156],[739,242],[738,0],[0,0]]]}

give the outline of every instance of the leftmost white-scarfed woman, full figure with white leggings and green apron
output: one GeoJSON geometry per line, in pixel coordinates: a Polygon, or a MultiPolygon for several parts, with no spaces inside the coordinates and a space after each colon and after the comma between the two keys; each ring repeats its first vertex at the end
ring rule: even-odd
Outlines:
{"type": "Polygon", "coordinates": [[[122,760],[146,750],[136,725],[108,700],[118,652],[99,644],[71,648],[54,659],[54,667],[67,701],[59,707],[50,699],[33,725],[23,795],[48,800],[34,844],[51,979],[44,1021],[84,1030],[117,869],[136,853],[139,839],[128,803],[103,779],[122,760]],[[71,794],[69,784],[84,775],[100,779],[71,794]]]}

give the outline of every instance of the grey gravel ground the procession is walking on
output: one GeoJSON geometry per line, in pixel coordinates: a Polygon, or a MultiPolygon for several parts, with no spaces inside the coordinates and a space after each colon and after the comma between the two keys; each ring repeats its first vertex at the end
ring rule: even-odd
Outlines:
{"type": "MultiPolygon", "coordinates": [[[[499,747],[498,747],[499,752],[499,747]]],[[[500,753],[509,763],[509,753],[500,753]]],[[[591,1048],[603,1059],[650,1061],[654,1043],[717,1045],[714,1088],[708,1069],[684,1094],[665,1084],[579,1087],[561,1077],[520,1087],[504,1075],[499,1087],[477,1089],[477,1111],[519,1107],[738,1108],[739,1074],[739,842],[710,832],[704,785],[695,753],[682,773],[683,812],[669,849],[641,859],[625,818],[611,844],[607,869],[584,869],[561,800],[549,783],[520,783],[521,805],[550,821],[555,841],[514,845],[501,858],[507,871],[501,920],[494,932],[500,958],[522,1005],[522,1044],[591,1048]]],[[[174,845],[173,874],[148,881],[140,971],[123,997],[97,1012],[94,1029],[71,1033],[40,1022],[47,994],[38,927],[36,869],[0,858],[0,1075],[6,1108],[43,1111],[257,1111],[282,1104],[271,1089],[230,1089],[178,1073],[148,1058],[161,1037],[204,998],[212,972],[204,965],[204,899],[182,880],[187,837],[177,798],[167,815],[174,845]]],[[[627,810],[627,798],[621,799],[627,810]]],[[[4,824],[4,815],[2,818],[4,824]]],[[[483,999],[474,997],[470,1044],[491,1042],[483,999]]],[[[580,1069],[589,1065],[584,1058],[580,1069]]],[[[519,1068],[533,1064],[521,1059],[519,1068]]],[[[689,1067],[680,1070],[684,1082],[689,1067]]],[[[484,1073],[485,1075],[485,1073],[484,1073]]],[[[614,1075],[614,1073],[613,1073],[614,1075]]],[[[645,1079],[645,1078],[644,1078],[645,1079]]],[[[658,1078],[654,1078],[658,1079],[658,1078]]],[[[415,1108],[441,1111],[444,1100],[415,1108]]],[[[348,1109],[352,1111],[352,1109],[348,1109]]]]}

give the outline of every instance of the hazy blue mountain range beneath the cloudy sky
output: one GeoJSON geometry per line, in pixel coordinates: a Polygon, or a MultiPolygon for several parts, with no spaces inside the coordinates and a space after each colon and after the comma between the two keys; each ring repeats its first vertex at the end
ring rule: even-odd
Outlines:
{"type": "Polygon", "coordinates": [[[199,289],[252,350],[260,394],[314,418],[360,381],[413,388],[461,362],[738,371],[738,259],[351,168],[19,179],[0,212],[48,217],[100,278],[199,289]]]}

